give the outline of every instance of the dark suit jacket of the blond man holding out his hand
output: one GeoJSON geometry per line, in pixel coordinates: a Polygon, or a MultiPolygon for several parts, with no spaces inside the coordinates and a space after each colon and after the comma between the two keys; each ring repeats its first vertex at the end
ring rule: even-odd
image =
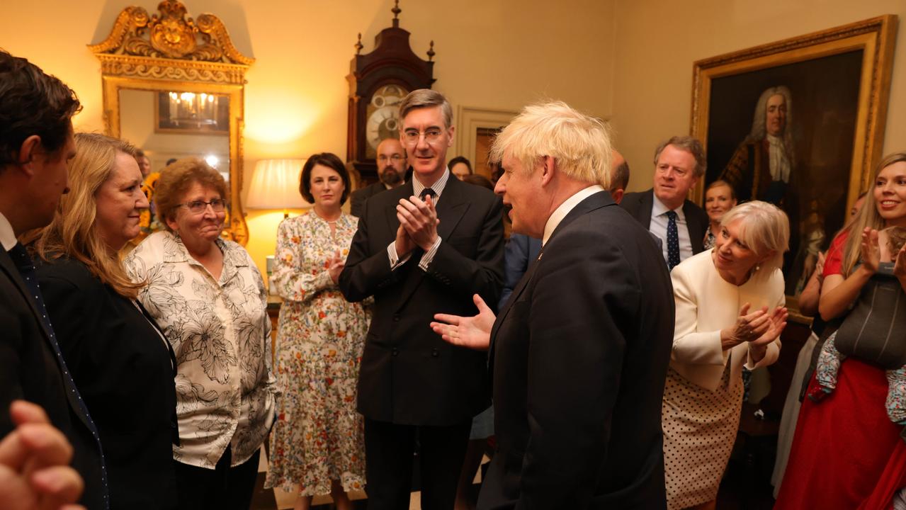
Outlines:
{"type": "Polygon", "coordinates": [[[491,332],[498,451],[478,508],[666,506],[670,275],[602,191],[554,230],[491,332]]]}

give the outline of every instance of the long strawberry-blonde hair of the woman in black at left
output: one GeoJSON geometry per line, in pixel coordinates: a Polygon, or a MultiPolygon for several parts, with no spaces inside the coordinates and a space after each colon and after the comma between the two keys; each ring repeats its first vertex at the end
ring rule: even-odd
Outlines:
{"type": "Polygon", "coordinates": [[[69,164],[69,193],[60,198],[53,221],[45,226],[34,249],[43,260],[62,256],[78,260],[92,275],[123,297],[135,299],[144,282],[130,280],[112,250],[95,228],[98,213],[97,191],[111,177],[117,154],[135,158],[129,142],[97,133],[75,134],[75,157],[69,164]]]}

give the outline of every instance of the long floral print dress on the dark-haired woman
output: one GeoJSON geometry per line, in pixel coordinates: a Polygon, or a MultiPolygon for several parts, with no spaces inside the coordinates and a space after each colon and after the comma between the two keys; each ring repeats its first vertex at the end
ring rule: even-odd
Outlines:
{"type": "Polygon", "coordinates": [[[284,298],[277,330],[277,420],[271,433],[265,487],[301,496],[365,485],[364,428],[355,409],[361,351],[371,322],[362,303],[348,303],[327,273],[339,251],[345,258],[358,220],[346,214],[331,224],[309,212],[284,219],[277,231],[272,284],[284,298]]]}

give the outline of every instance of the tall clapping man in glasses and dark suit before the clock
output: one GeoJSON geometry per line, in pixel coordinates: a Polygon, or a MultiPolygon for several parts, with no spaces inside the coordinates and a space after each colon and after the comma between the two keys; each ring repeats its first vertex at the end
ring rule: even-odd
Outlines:
{"type": "Polygon", "coordinates": [[[488,404],[487,358],[441,341],[429,322],[475,313],[475,293],[496,303],[502,205],[451,177],[452,109],[439,92],[412,91],[400,119],[413,178],[365,202],[339,283],[350,301],[374,296],[358,386],[369,508],[409,508],[418,434],[421,507],[451,510],[472,417],[488,404]]]}

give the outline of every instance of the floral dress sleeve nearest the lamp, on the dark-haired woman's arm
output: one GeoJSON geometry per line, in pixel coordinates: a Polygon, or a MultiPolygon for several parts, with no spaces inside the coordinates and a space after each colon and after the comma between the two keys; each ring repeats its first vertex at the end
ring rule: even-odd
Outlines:
{"type": "Polygon", "coordinates": [[[332,287],[331,275],[323,265],[306,265],[302,237],[294,229],[296,218],[284,219],[277,229],[274,274],[271,276],[280,297],[305,302],[323,289],[332,287]]]}

